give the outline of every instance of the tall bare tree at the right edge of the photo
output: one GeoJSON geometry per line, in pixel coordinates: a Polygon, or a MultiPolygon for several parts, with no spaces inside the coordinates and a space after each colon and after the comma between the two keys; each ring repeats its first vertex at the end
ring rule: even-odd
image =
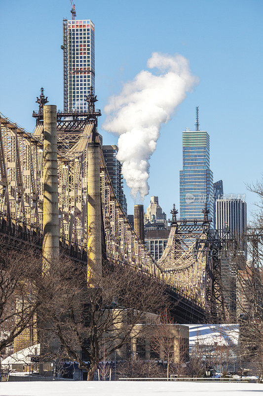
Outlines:
{"type": "MultiPolygon", "coordinates": [[[[230,304],[236,308],[236,320],[240,325],[239,365],[253,366],[263,377],[263,180],[248,186],[260,202],[256,205],[252,221],[242,237],[236,238],[229,254],[229,281],[234,293],[230,304]]],[[[226,275],[225,275],[226,276],[226,275]]]]}

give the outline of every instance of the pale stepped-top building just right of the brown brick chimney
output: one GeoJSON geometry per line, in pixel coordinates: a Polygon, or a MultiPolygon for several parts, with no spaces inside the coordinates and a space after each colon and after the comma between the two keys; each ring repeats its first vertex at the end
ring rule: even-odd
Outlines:
{"type": "Polygon", "coordinates": [[[150,197],[150,205],[144,214],[144,227],[147,230],[167,230],[166,214],[159,205],[158,197],[150,197]]]}

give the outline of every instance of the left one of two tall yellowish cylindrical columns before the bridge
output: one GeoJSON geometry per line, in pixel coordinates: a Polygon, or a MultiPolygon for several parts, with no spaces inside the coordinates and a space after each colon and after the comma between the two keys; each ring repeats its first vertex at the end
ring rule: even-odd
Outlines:
{"type": "Polygon", "coordinates": [[[57,106],[44,111],[43,269],[59,259],[57,106]]]}

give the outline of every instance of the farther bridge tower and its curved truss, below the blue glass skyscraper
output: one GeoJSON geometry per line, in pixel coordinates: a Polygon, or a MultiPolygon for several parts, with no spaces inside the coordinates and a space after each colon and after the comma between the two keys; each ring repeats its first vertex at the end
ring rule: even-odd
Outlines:
{"type": "Polygon", "coordinates": [[[158,264],[169,276],[169,283],[205,307],[211,320],[224,319],[221,258],[232,248],[229,230],[219,235],[210,228],[207,207],[203,220],[177,220],[175,205],[171,213],[169,239],[158,264]]]}

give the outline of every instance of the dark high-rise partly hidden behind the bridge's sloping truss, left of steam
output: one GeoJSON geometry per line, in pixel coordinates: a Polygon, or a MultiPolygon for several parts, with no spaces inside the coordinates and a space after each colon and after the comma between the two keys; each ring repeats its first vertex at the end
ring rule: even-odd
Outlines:
{"type": "Polygon", "coordinates": [[[123,176],[121,174],[121,163],[116,158],[118,147],[116,145],[102,146],[102,151],[115,195],[125,215],[127,215],[127,201],[125,194],[123,193],[123,176]]]}

